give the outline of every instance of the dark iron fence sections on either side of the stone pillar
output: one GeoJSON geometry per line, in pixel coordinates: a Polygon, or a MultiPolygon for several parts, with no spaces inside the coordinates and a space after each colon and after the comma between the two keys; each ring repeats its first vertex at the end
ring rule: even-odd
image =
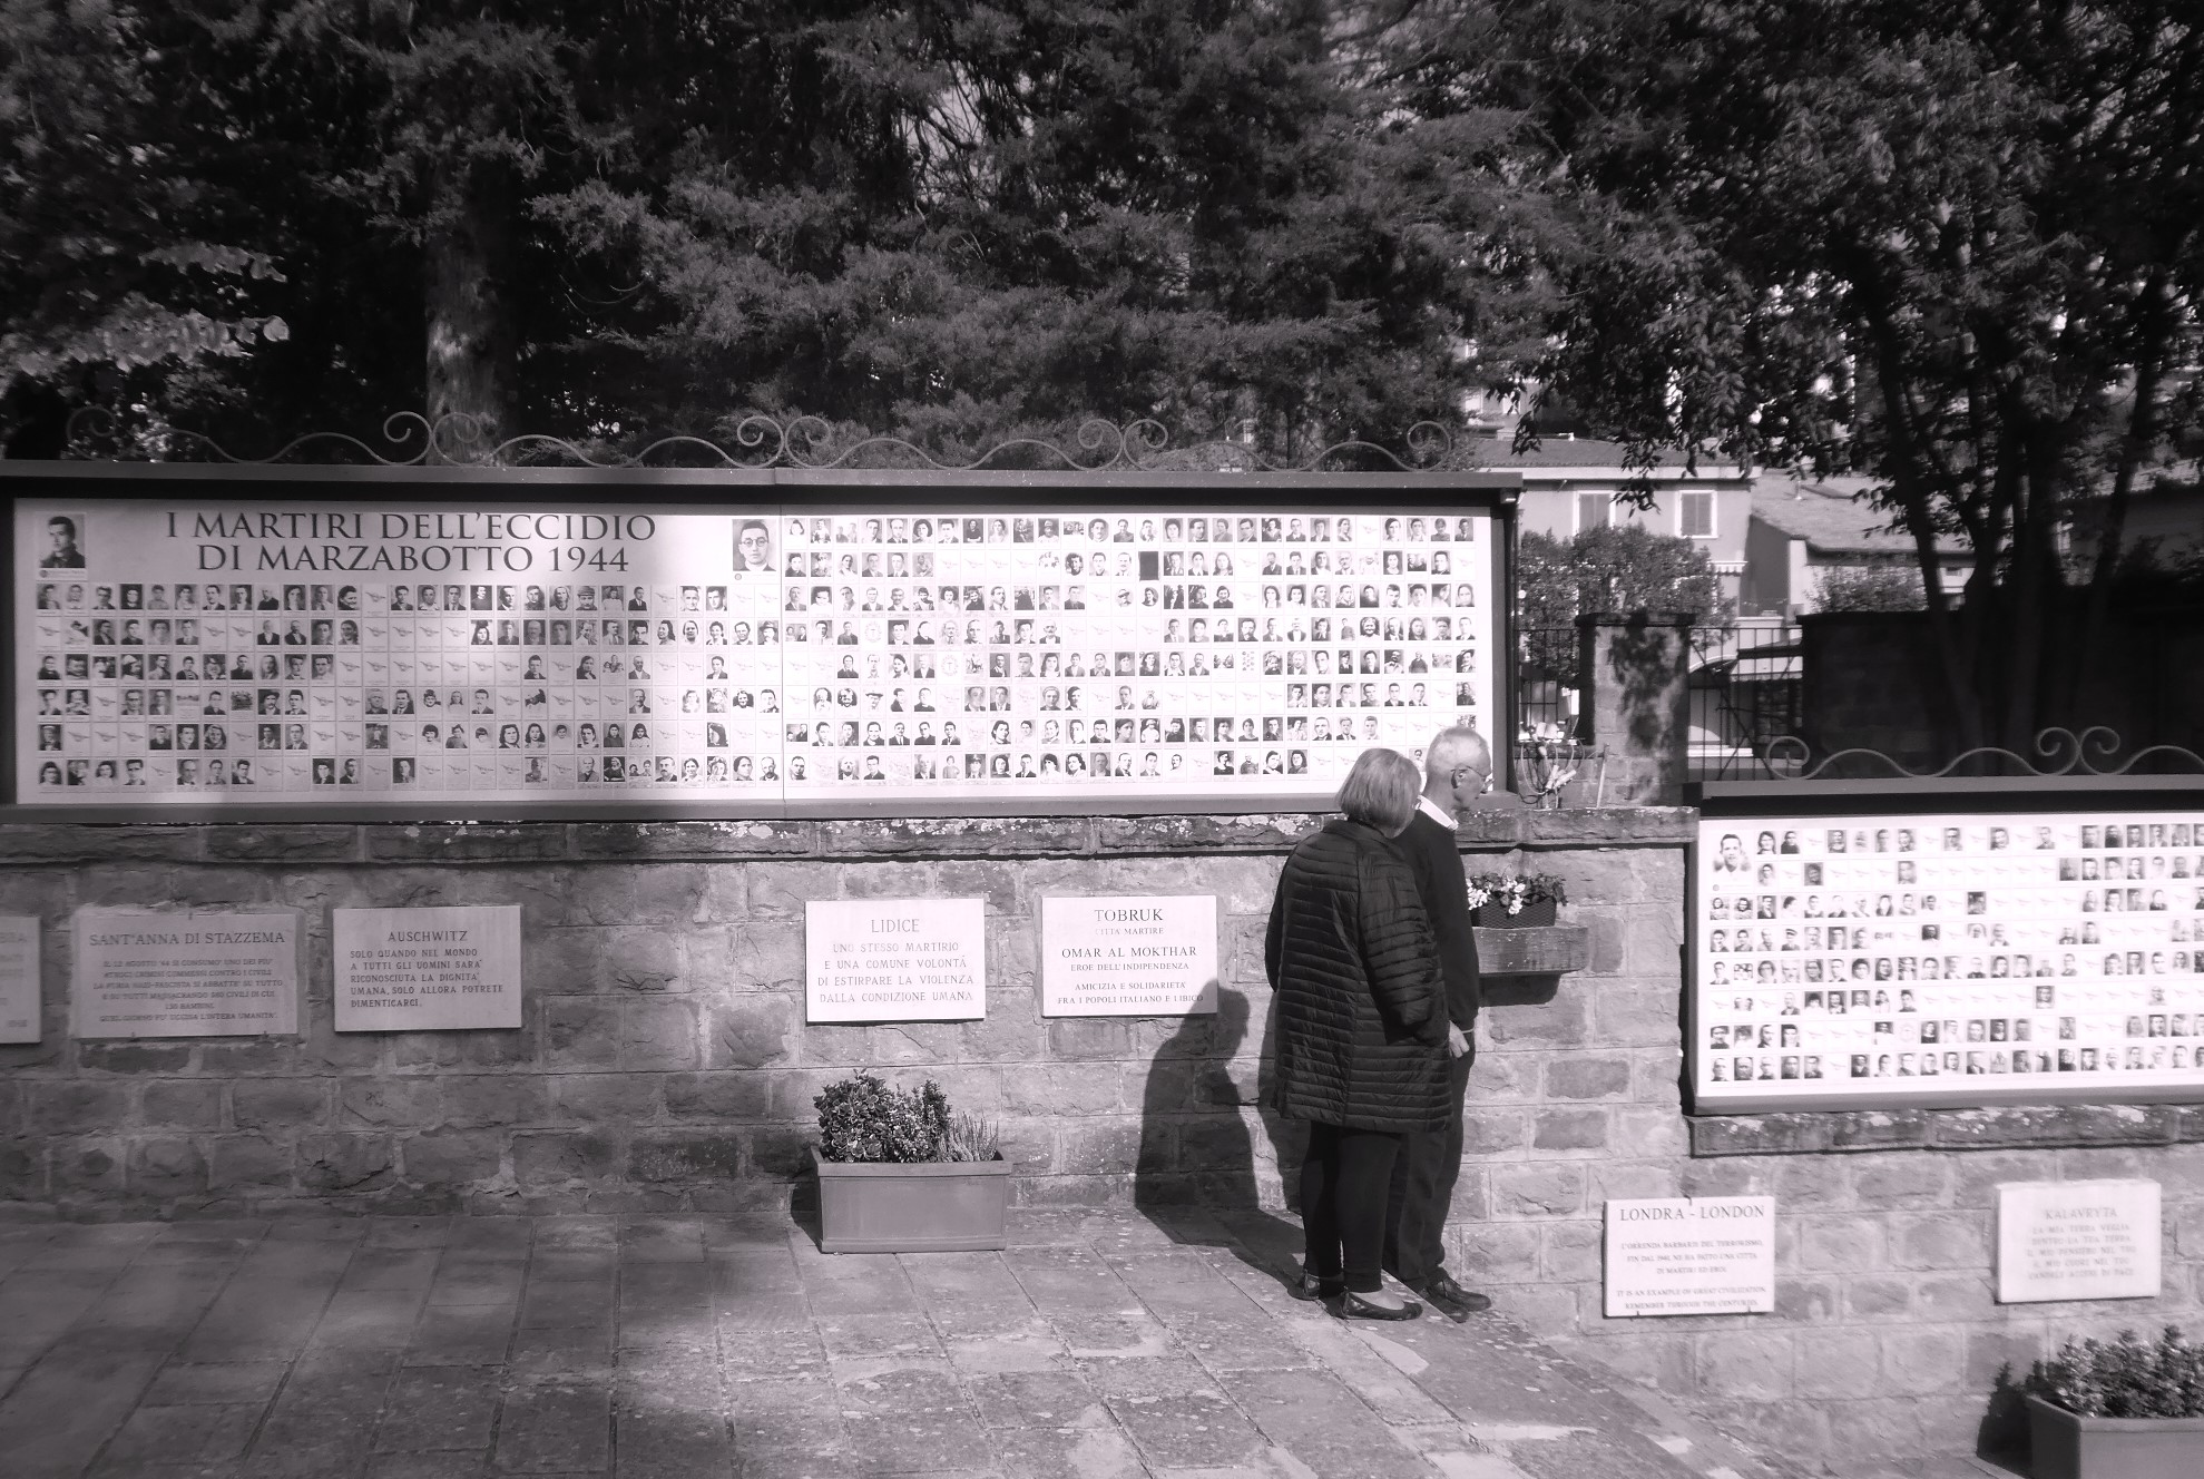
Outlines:
{"type": "MultiPolygon", "coordinates": [[[[1574,626],[1516,630],[1516,769],[1525,741],[1578,738],[1580,650],[1574,626]]],[[[1798,732],[1798,628],[1785,622],[1695,626],[1690,630],[1690,721],[1686,767],[1693,780],[1785,776],[1796,760],[1774,741],[1798,732]]]]}

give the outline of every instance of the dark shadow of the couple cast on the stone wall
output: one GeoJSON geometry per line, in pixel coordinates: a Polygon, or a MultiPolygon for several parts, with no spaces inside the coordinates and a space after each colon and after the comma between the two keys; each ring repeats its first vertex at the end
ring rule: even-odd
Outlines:
{"type": "Polygon", "coordinates": [[[1184,1018],[1157,1049],[1142,1095],[1133,1206],[1177,1243],[1223,1245],[1289,1281],[1300,1272],[1300,1221],[1261,1203],[1247,1111],[1270,1142],[1287,1206],[1298,1199],[1307,1133],[1270,1109],[1276,1005],[1263,1023],[1254,1089],[1232,1076],[1247,1027],[1247,994],[1219,985],[1217,1014],[1184,1018]]]}

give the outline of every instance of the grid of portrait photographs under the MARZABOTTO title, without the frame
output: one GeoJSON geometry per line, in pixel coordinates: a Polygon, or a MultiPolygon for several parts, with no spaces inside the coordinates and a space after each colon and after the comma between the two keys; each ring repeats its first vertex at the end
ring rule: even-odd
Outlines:
{"type": "Polygon", "coordinates": [[[1322,796],[1492,712],[1483,514],[652,514],[245,580],[18,509],[18,796],[1322,796]]]}

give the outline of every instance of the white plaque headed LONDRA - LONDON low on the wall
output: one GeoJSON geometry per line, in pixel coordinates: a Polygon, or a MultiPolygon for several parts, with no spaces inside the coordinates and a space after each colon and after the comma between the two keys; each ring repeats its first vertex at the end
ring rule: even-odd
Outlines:
{"type": "Polygon", "coordinates": [[[1774,1197],[1607,1203],[1609,1318],[1768,1314],[1774,1307],[1774,1197]]]}

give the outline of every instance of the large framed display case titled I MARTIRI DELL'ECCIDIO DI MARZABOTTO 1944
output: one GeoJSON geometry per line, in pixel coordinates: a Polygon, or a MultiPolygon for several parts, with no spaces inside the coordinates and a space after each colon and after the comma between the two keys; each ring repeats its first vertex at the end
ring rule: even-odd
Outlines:
{"type": "Polygon", "coordinates": [[[1508,474],[7,472],[26,809],[1309,809],[1512,723],[1508,474]]]}

